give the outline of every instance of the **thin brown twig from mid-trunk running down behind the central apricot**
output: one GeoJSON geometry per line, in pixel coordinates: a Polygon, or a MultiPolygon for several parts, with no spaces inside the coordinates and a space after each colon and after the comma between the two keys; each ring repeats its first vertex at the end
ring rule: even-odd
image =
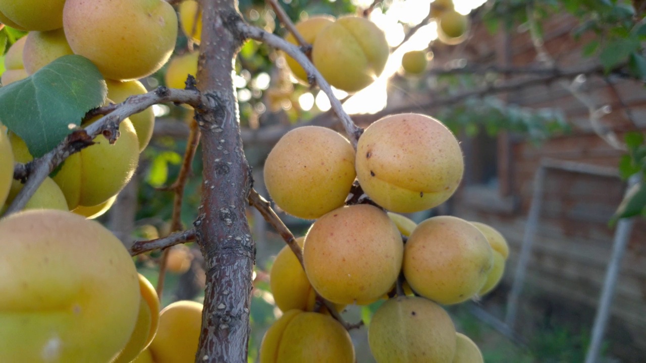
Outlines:
{"type": "MultiPolygon", "coordinates": [[[[304,264],[303,264],[303,251],[300,249],[300,246],[296,242],[296,238],[294,238],[294,235],[289,231],[289,228],[285,225],[285,223],[282,222],[280,217],[276,214],[276,212],[271,208],[271,205],[265,198],[263,198],[258,192],[256,192],[255,189],[251,189],[251,192],[249,192],[249,205],[253,205],[260,214],[262,214],[263,218],[269,223],[278,234],[285,240],[291,251],[296,255],[296,258],[298,259],[298,262],[300,265],[305,269],[304,264]]],[[[341,315],[339,314],[339,311],[337,311],[337,307],[332,303],[323,298],[322,296],[318,295],[317,293],[317,301],[320,302],[323,306],[328,309],[329,313],[337,319],[346,329],[354,329],[355,327],[359,327],[363,325],[363,322],[360,322],[359,324],[348,324],[343,320],[341,315]]]]}

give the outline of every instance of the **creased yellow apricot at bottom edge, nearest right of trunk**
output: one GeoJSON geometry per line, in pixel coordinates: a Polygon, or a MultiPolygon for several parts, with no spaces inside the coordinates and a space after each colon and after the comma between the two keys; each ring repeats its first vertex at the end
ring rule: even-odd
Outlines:
{"type": "Polygon", "coordinates": [[[353,363],[348,331],[328,315],[289,310],[265,333],[260,363],[353,363]]]}

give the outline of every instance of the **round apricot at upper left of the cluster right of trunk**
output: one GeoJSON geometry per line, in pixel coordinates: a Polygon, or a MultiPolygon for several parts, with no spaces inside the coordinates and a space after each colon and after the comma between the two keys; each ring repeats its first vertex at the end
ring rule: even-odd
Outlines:
{"type": "Polygon", "coordinates": [[[339,208],[355,180],[355,150],[325,127],[298,127],[271,149],[264,167],[269,195],[293,216],[315,219],[339,208]]]}

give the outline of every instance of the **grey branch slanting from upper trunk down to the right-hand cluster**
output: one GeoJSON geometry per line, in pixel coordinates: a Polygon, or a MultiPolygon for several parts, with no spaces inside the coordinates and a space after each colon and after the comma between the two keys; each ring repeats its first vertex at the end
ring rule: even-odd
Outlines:
{"type": "Polygon", "coordinates": [[[307,72],[307,79],[310,81],[310,83],[316,81],[318,87],[320,87],[320,89],[326,94],[326,96],[328,96],[332,109],[334,110],[335,114],[337,114],[337,117],[339,117],[339,119],[341,120],[341,123],[346,130],[346,134],[348,134],[350,142],[356,149],[357,141],[359,140],[359,136],[361,136],[361,134],[363,133],[363,129],[355,125],[354,121],[352,121],[348,113],[346,113],[346,111],[343,109],[343,105],[341,104],[339,99],[334,96],[334,93],[332,92],[332,88],[330,87],[328,81],[323,78],[320,72],[318,72],[317,68],[314,67],[312,62],[307,58],[307,56],[303,52],[301,52],[300,49],[295,45],[289,43],[281,37],[266,32],[265,30],[248,25],[243,21],[238,22],[237,26],[240,33],[245,37],[256,39],[257,41],[262,41],[270,47],[282,50],[287,55],[295,59],[295,61],[297,61],[298,64],[301,65],[301,67],[303,67],[303,69],[307,72]]]}

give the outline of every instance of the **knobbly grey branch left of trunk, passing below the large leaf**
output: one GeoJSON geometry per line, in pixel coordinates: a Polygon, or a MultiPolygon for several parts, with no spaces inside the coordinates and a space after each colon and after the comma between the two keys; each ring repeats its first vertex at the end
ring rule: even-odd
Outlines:
{"type": "MultiPolygon", "coordinates": [[[[186,103],[196,109],[208,104],[209,99],[197,90],[179,90],[167,87],[158,87],[146,94],[130,96],[128,99],[117,105],[108,106],[112,111],[91,123],[85,129],[74,130],[65,140],[61,141],[54,150],[48,152],[41,158],[30,161],[31,166],[17,165],[14,174],[25,177],[25,171],[31,171],[26,175],[26,182],[23,189],[18,193],[14,202],[9,206],[6,215],[23,209],[34,195],[38,186],[47,178],[50,172],[54,171],[65,158],[92,145],[92,140],[103,134],[110,143],[114,143],[119,135],[119,125],[125,118],[137,114],[152,105],[163,102],[186,103]]],[[[90,111],[96,112],[96,111],[90,111]]]]}

